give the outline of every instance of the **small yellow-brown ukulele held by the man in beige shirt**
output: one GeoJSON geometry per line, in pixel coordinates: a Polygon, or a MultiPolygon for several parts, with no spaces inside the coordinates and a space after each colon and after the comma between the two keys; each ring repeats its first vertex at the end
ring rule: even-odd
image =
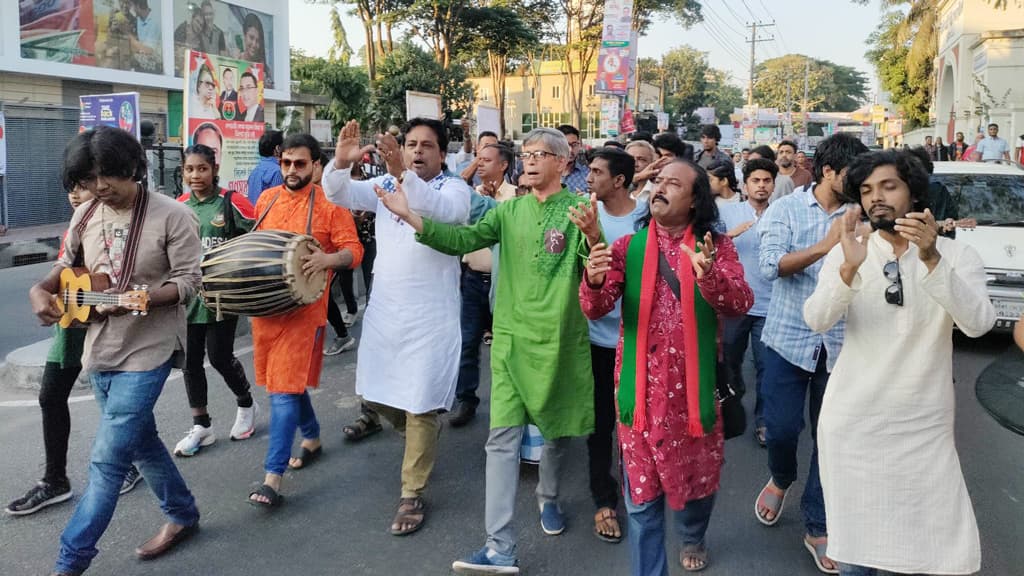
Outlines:
{"type": "Polygon", "coordinates": [[[60,291],[56,294],[60,308],[60,327],[88,324],[99,318],[95,306],[121,306],[135,316],[145,315],[150,310],[150,293],[145,285],[132,286],[132,290],[120,294],[109,294],[103,290],[112,286],[111,277],[105,274],[89,274],[84,268],[66,268],[60,271],[60,291]]]}

